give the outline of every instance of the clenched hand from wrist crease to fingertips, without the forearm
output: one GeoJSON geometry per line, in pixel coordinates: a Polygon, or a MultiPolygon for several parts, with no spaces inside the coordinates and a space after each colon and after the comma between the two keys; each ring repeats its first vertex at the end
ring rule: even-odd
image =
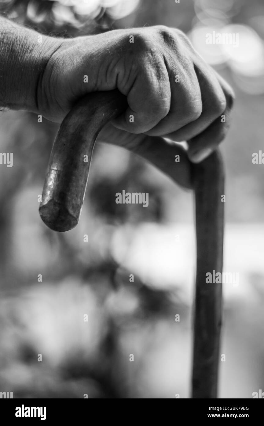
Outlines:
{"type": "Polygon", "coordinates": [[[112,125],[137,141],[142,133],[186,140],[189,158],[199,162],[226,135],[232,89],[181,31],[165,26],[61,40],[39,80],[39,110],[60,122],[81,96],[116,88],[128,108],[112,125]]]}

